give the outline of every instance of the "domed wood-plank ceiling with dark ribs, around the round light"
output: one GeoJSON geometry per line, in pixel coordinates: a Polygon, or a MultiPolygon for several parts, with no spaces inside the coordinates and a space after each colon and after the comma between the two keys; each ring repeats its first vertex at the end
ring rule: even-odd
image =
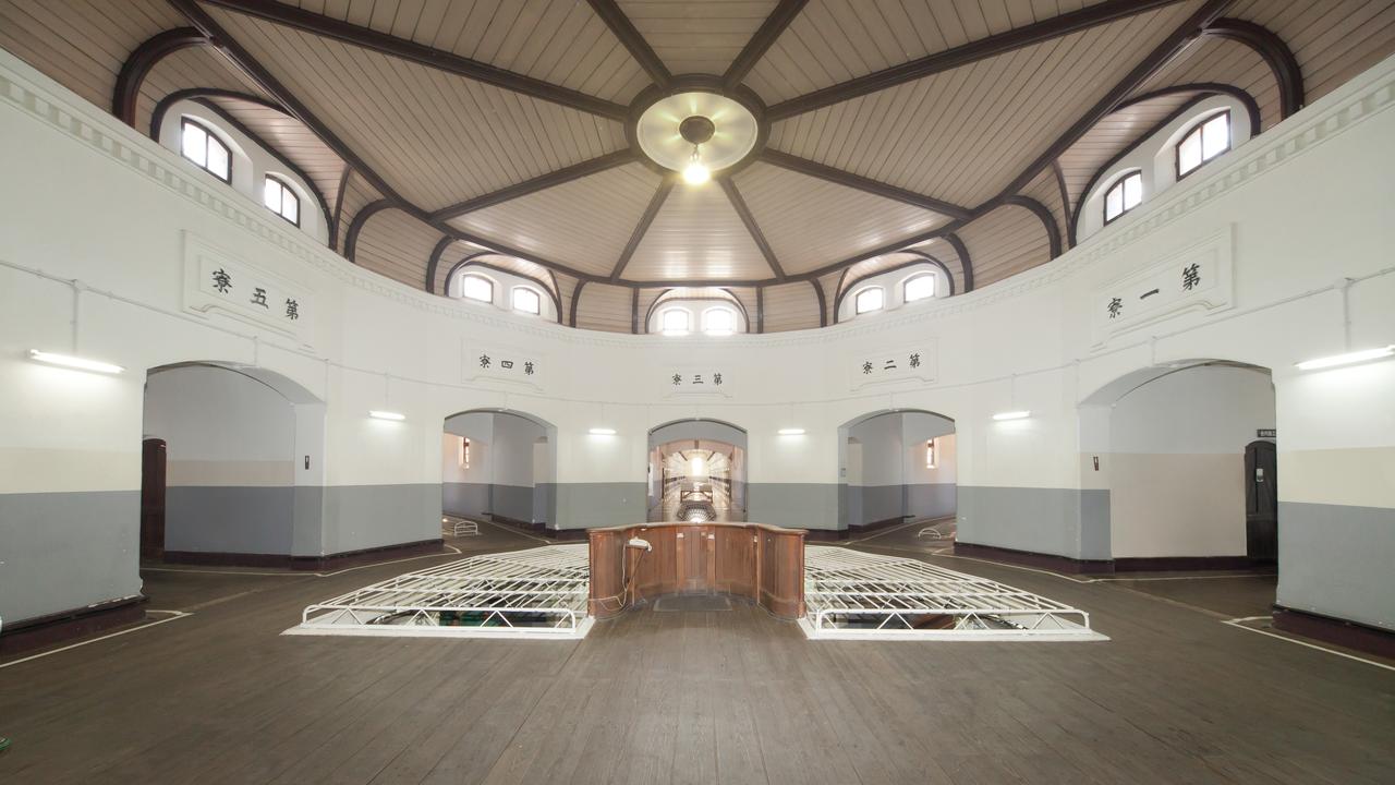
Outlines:
{"type": "Polygon", "coordinates": [[[1395,0],[0,0],[0,45],[142,131],[216,106],[412,286],[490,264],[615,331],[721,288],[774,331],[1049,261],[1112,158],[1216,92],[1267,130],[1395,50],[1395,0]],[[703,186],[635,140],[684,91],[759,123],[703,186]]]}

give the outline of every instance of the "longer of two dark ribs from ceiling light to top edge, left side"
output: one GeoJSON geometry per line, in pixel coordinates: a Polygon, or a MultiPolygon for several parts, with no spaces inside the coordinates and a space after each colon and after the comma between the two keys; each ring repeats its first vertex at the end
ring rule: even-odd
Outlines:
{"type": "MultiPolygon", "coordinates": [[[[230,11],[237,11],[250,17],[292,27],[312,35],[332,38],[364,49],[371,49],[382,54],[391,54],[403,60],[410,60],[428,68],[437,68],[460,77],[467,77],[498,88],[520,92],[591,115],[600,115],[612,120],[625,120],[629,109],[612,101],[596,98],[580,91],[555,85],[533,77],[526,77],[488,63],[460,57],[451,52],[434,49],[424,43],[417,43],[405,38],[398,38],[372,28],[350,24],[324,14],[306,11],[294,6],[278,3],[276,0],[204,0],[211,6],[220,6],[230,11]]],[[[181,11],[190,0],[170,0],[181,11]]],[[[186,15],[188,13],[186,11],[186,15]]],[[[202,29],[202,25],[194,24],[202,29]]],[[[206,32],[206,31],[205,31],[206,32]]],[[[213,36],[215,39],[218,36],[213,36]]]]}

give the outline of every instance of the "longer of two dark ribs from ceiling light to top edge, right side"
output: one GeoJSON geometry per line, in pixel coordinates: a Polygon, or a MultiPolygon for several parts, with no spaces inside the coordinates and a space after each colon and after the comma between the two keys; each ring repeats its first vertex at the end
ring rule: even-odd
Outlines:
{"type": "Polygon", "coordinates": [[[1024,46],[1031,46],[1034,43],[1089,29],[1096,25],[1113,22],[1134,14],[1161,8],[1163,6],[1170,6],[1177,1],[1179,0],[1106,0],[1105,3],[1088,6],[1078,11],[1070,11],[1041,22],[1023,25],[1003,34],[971,41],[963,46],[946,49],[944,52],[936,52],[935,54],[921,57],[919,60],[911,60],[910,63],[901,63],[900,66],[891,66],[890,68],[883,68],[841,84],[806,92],[801,96],[791,98],[790,101],[776,103],[766,112],[766,117],[771,122],[783,120],[794,115],[812,112],[833,103],[841,103],[844,101],[858,98],[859,95],[868,95],[889,87],[925,78],[940,71],[958,68],[978,60],[1013,52],[1014,49],[1021,49],[1024,46]]]}

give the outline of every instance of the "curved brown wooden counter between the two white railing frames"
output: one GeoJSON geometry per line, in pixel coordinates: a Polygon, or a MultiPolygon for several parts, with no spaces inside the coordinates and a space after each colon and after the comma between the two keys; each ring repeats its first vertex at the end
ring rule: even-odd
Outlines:
{"type": "Polygon", "coordinates": [[[804,615],[804,529],[671,522],[587,534],[590,613],[597,619],[664,594],[730,594],[781,619],[804,615]],[[628,548],[632,538],[649,542],[651,550],[628,548]]]}

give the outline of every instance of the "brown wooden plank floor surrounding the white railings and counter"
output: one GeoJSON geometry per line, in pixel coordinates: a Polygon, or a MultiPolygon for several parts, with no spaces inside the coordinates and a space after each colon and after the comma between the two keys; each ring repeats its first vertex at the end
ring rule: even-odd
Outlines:
{"type": "Polygon", "coordinates": [[[810,643],[739,602],[580,643],[280,637],[311,601],[434,562],[148,571],[152,609],[193,615],[0,669],[0,782],[1392,781],[1395,672],[1223,624],[1208,605],[1235,581],[1159,596],[929,559],[1113,640],[810,643]]]}

